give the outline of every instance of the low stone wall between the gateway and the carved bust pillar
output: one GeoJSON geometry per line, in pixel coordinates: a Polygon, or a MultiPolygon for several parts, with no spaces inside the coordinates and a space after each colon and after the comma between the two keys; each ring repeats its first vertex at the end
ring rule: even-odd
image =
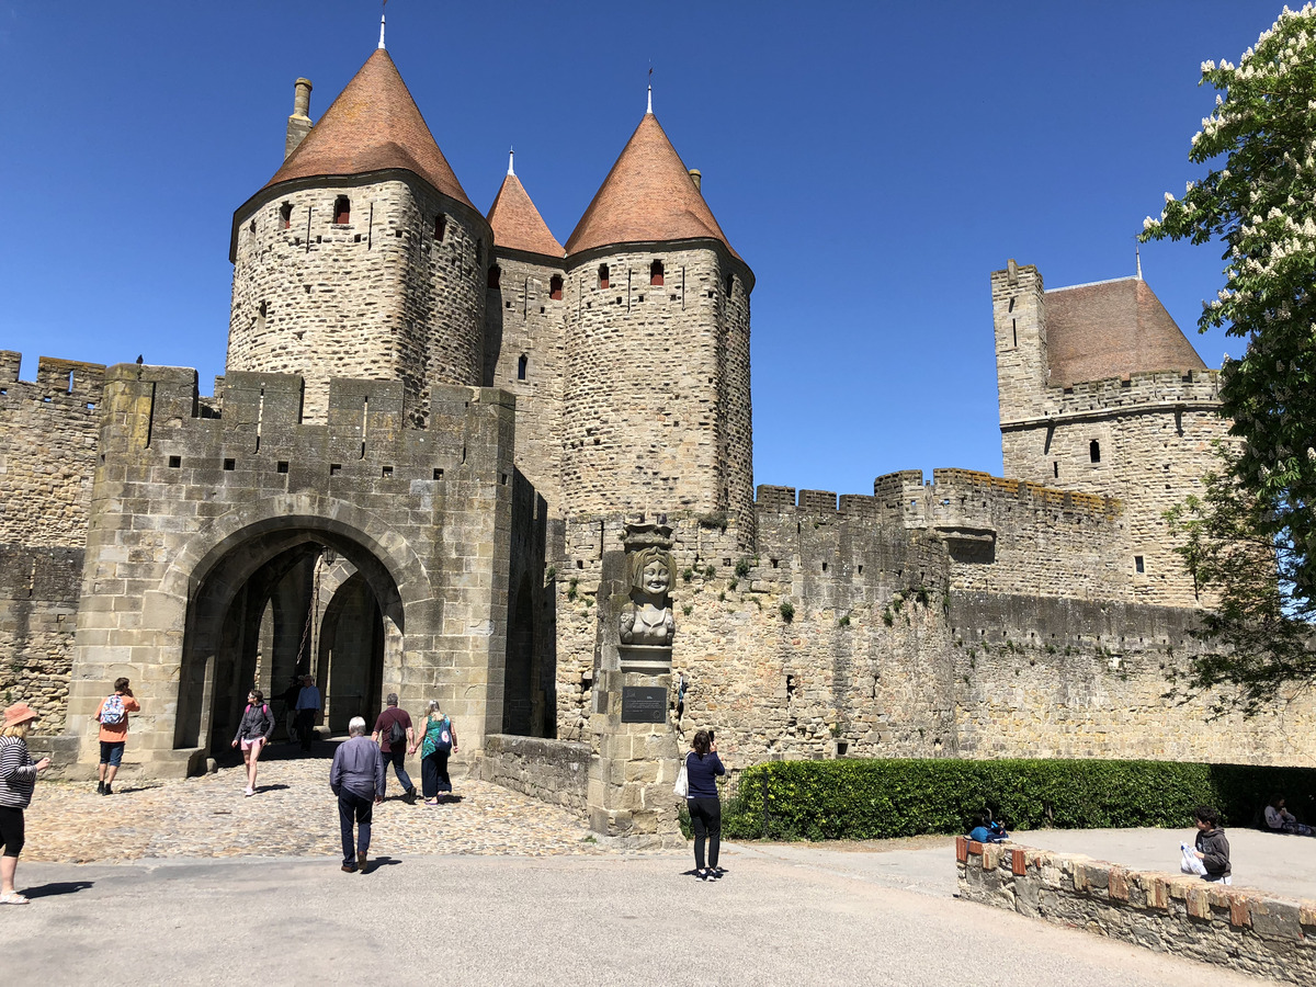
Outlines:
{"type": "Polygon", "coordinates": [[[491,733],[472,774],[588,819],[588,744],[491,733]]]}

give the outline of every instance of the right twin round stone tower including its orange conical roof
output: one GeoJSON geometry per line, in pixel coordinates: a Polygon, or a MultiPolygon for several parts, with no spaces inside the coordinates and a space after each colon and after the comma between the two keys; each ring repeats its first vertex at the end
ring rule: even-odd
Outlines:
{"type": "Polygon", "coordinates": [[[566,513],[730,512],[750,532],[754,275],[653,112],[566,251],[566,513]]]}

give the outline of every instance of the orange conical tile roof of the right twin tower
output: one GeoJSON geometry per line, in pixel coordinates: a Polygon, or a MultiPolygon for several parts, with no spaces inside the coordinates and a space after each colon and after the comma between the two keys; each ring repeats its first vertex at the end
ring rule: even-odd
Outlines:
{"type": "Polygon", "coordinates": [[[567,241],[576,254],[611,243],[720,240],[737,254],[713,218],[658,117],[645,113],[617,163],[567,241]]]}

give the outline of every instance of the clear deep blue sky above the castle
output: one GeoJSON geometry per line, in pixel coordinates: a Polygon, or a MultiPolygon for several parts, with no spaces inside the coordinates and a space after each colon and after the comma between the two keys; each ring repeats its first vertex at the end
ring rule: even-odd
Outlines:
{"type": "MultiPolygon", "coordinates": [[[[517,174],[566,241],[645,105],[758,284],[755,483],[871,492],[1000,472],[988,274],[1133,274],[1188,141],[1279,13],[1255,0],[522,4],[393,0],[388,49],[471,200],[517,174]]],[[[379,4],[0,0],[0,347],[224,370],[233,209],[374,50],[379,4]]],[[[1220,249],[1144,274],[1199,337],[1220,249]]]]}

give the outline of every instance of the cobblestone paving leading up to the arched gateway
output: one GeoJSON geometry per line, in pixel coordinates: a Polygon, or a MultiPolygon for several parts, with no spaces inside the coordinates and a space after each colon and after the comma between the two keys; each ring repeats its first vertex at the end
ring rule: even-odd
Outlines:
{"type": "MultiPolygon", "coordinates": [[[[411,765],[408,765],[411,767],[411,765]]],[[[415,778],[420,782],[420,765],[415,778]]],[[[125,782],[96,795],[95,782],[38,782],[26,812],[24,861],[88,863],[157,857],[313,857],[341,854],[329,759],[262,761],[257,794],[242,795],[242,767],[170,782],[125,782]]],[[[454,779],[458,801],[388,797],[375,807],[372,854],[607,854],[565,809],[507,788],[454,779]]]]}

